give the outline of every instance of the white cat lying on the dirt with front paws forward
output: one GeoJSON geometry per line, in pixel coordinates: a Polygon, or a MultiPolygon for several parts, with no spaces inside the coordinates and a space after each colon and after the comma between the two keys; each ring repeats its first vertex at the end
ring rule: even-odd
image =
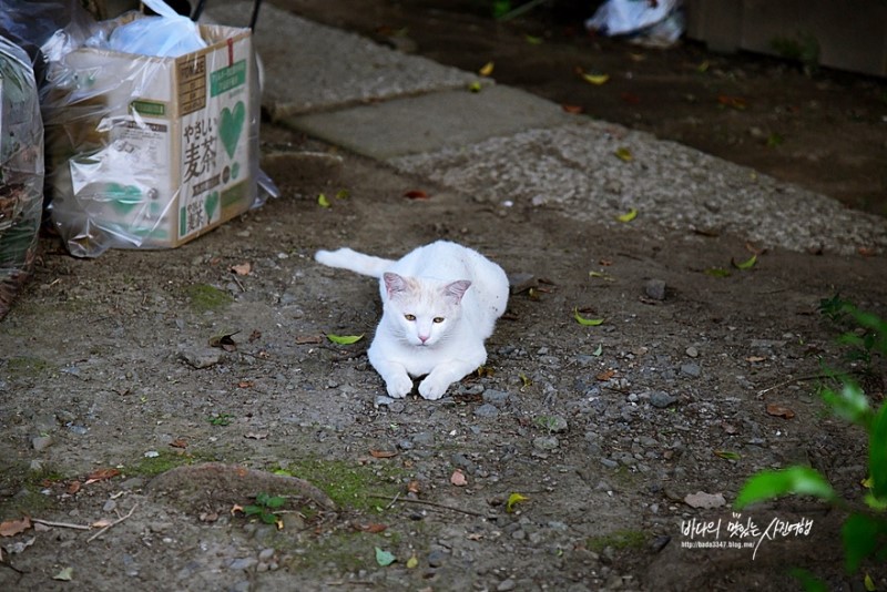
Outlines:
{"type": "Polygon", "coordinates": [[[419,395],[439,399],[487,361],[483,341],[506,310],[508,278],[477,251],[438,241],[398,261],[350,248],[318,251],[315,259],[380,278],[383,316],[368,355],[391,397],[406,397],[410,377],[426,376],[419,395]]]}

